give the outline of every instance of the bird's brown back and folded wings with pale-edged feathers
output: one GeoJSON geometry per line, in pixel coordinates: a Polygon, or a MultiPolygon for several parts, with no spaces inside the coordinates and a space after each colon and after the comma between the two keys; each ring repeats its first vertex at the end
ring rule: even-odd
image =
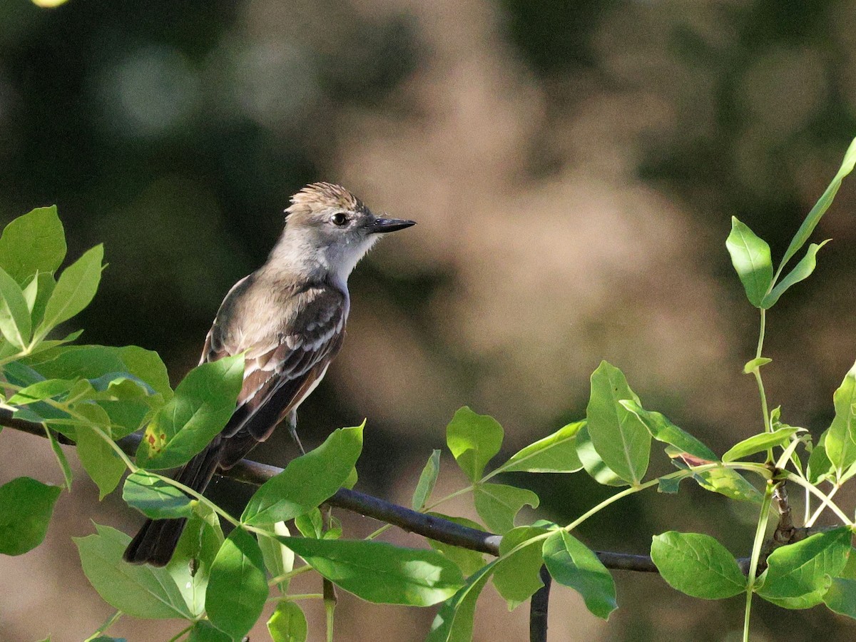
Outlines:
{"type": "Polygon", "coordinates": [[[346,295],[332,286],[277,288],[254,275],[227,294],[202,360],[246,352],[238,405],[221,433],[236,450],[246,454],[265,441],[324,376],[342,347],[347,305],[346,295]],[[271,309],[276,313],[259,318],[259,311],[271,309]],[[248,448],[239,445],[244,442],[248,448]]]}

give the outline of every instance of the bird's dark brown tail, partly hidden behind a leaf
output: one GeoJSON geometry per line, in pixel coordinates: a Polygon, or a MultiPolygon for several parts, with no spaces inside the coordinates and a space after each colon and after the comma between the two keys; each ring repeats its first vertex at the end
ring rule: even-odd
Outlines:
{"type": "MultiPolygon", "coordinates": [[[[196,492],[204,491],[220,464],[222,455],[220,444],[220,439],[209,444],[199,455],[187,462],[175,480],[196,492]]],[[[146,520],[140,532],[125,549],[123,555],[125,562],[166,566],[175,552],[175,546],[178,545],[178,539],[181,538],[181,531],[184,530],[186,521],[184,518],[146,520]]]]}

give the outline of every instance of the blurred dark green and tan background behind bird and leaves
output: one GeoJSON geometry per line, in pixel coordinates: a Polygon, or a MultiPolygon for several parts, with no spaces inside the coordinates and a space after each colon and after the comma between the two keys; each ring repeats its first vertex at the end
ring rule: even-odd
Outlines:
{"type": "MultiPolygon", "coordinates": [[[[69,258],[103,241],[110,266],[75,321],[81,341],[157,350],[175,384],[306,182],[341,182],[419,221],[355,271],[348,341],[300,409],[307,446],[367,417],[358,488],[393,501],[409,501],[456,408],[495,416],[510,455],[585,414],[602,359],[645,407],[722,452],[762,426],[741,373],[758,314],[725,250],[729,218],[781,258],[856,135],[854,27],[847,0],[4,0],[0,223],[56,203],[69,258]]],[[[768,318],[771,407],[815,436],[856,358],[854,214],[849,178],[812,239],[834,239],[816,273],[768,318]]],[[[293,455],[284,434],[254,454],[293,455]]],[[[464,483],[448,454],[441,473],[437,496],[464,483]]],[[[4,431],[0,483],[21,474],[60,479],[44,441],[4,431]]],[[[584,473],[505,481],[566,523],[610,493],[584,473]]],[[[240,509],[250,489],[211,492],[240,509]]],[[[445,509],[475,516],[467,498],[445,509]]],[[[377,527],[339,515],[354,536],[377,527]]],[[[142,521],[117,494],[98,504],[80,473],[45,544],[0,558],[0,639],[79,640],[110,615],[70,540],[90,519],[125,532],[142,521]]],[[[645,553],[654,533],[707,532],[746,556],[755,519],[687,484],[615,504],[580,537],[645,553]]],[[[550,639],[738,637],[742,597],[615,578],[608,622],[555,587],[550,639]]],[[[823,608],[755,604],[753,639],[856,632],[823,608]]],[[[321,605],[307,609],[310,639],[323,639],[321,605]]],[[[526,639],[527,611],[485,589],[475,639],[526,639]]],[[[341,594],[336,639],[424,639],[433,614],[341,594]]],[[[110,633],[180,628],[124,619],[110,633]]],[[[264,624],[251,638],[266,639],[264,624]]]]}

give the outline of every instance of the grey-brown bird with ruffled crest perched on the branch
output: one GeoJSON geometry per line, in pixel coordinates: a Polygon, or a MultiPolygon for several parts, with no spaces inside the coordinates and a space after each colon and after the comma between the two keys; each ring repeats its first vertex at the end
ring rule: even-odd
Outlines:
{"type": "MultiPolygon", "coordinates": [[[[177,477],[197,492],[282,420],[296,441],[295,411],[342,347],[351,305],[348,275],[378,235],[414,224],[378,218],[354,194],[330,183],[304,187],[285,212],[285,229],[267,262],[229,290],[205,339],[201,363],[246,353],[246,364],[229,423],[177,477]]],[[[165,565],[184,522],[146,520],[125,560],[165,565]]]]}

